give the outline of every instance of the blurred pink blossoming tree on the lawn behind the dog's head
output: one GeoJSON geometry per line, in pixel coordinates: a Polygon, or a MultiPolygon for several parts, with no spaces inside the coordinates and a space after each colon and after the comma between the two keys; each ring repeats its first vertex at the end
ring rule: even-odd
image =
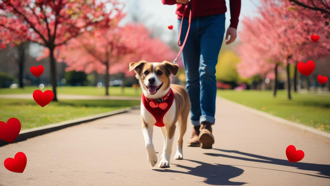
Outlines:
{"type": "MultiPolygon", "coordinates": [[[[105,74],[106,95],[109,95],[110,74],[123,72],[134,76],[128,71],[130,62],[142,59],[149,62],[171,61],[176,54],[158,38],[151,38],[150,31],[142,24],[127,24],[119,27],[121,17],[113,22],[112,29],[97,29],[85,32],[70,40],[55,53],[58,62],[65,62],[69,70],[105,74]],[[116,25],[115,25],[116,24],[116,25]]],[[[49,55],[46,50],[44,55],[49,55]]]]}

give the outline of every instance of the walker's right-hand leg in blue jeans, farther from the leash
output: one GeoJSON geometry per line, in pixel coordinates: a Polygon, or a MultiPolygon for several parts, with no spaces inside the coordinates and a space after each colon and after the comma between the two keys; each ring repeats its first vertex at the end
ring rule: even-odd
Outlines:
{"type": "Polygon", "coordinates": [[[201,30],[201,55],[199,75],[200,89],[200,123],[215,122],[216,80],[215,65],[225,32],[225,14],[201,17],[198,24],[201,30]]]}

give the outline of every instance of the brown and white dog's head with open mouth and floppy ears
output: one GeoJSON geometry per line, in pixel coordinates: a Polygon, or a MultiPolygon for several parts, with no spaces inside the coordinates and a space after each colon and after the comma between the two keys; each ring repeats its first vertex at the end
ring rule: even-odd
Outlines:
{"type": "Polygon", "coordinates": [[[129,64],[129,71],[135,71],[145,96],[151,99],[164,96],[170,89],[170,75],[176,75],[179,65],[164,61],[162,63],[148,63],[146,61],[129,64]]]}

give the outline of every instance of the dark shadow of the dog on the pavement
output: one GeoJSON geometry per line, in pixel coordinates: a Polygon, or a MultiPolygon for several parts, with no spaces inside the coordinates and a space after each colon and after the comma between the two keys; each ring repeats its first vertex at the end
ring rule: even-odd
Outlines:
{"type": "MultiPolygon", "coordinates": [[[[182,160],[184,161],[184,160],[182,160]]],[[[170,169],[153,169],[154,171],[158,172],[168,172],[168,173],[182,173],[182,174],[189,174],[194,175],[198,177],[204,177],[206,180],[204,183],[210,184],[210,185],[243,185],[244,182],[233,182],[229,181],[229,179],[237,177],[241,175],[244,170],[233,167],[230,165],[221,165],[221,164],[209,164],[204,163],[200,161],[195,160],[188,160],[191,162],[195,162],[198,164],[201,164],[197,167],[187,167],[183,165],[177,165],[177,164],[171,164],[176,165],[180,168],[184,168],[189,170],[188,172],[182,172],[182,171],[174,171],[170,169]]]]}

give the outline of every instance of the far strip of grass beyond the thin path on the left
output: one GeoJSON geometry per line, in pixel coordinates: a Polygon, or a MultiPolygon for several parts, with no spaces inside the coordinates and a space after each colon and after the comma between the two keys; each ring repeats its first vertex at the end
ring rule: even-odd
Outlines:
{"type": "MultiPolygon", "coordinates": [[[[33,91],[39,89],[37,86],[24,87],[23,89],[0,89],[0,94],[23,94],[23,93],[33,93],[33,91]]],[[[45,87],[41,89],[43,92],[46,90],[52,90],[51,87],[45,87]]],[[[125,87],[124,93],[121,93],[121,87],[110,87],[110,95],[122,95],[122,96],[141,96],[142,90],[140,87],[135,91],[132,87],[125,87]]],[[[105,95],[105,88],[97,87],[57,87],[57,94],[74,94],[74,95],[105,95]]]]}

